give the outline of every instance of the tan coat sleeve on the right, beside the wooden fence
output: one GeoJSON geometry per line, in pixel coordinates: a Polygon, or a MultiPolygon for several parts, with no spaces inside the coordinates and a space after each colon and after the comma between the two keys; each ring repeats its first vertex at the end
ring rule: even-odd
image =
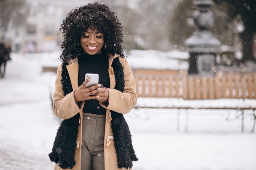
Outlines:
{"type": "Polygon", "coordinates": [[[117,113],[129,113],[137,103],[136,82],[128,61],[121,57],[119,59],[124,67],[124,91],[122,93],[116,89],[108,88],[108,106],[105,106],[102,102],[100,104],[102,107],[117,113]]]}

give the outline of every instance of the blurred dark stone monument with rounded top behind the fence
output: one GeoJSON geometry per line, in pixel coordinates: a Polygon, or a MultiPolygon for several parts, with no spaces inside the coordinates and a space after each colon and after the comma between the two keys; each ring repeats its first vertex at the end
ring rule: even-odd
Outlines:
{"type": "Polygon", "coordinates": [[[197,28],[191,37],[185,40],[189,52],[188,74],[214,75],[220,41],[210,31],[214,24],[213,14],[210,10],[213,1],[194,0],[194,4],[198,9],[194,15],[197,28]]]}

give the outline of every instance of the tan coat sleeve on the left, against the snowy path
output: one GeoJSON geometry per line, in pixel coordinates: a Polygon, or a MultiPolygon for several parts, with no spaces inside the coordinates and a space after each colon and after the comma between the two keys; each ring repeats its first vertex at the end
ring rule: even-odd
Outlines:
{"type": "Polygon", "coordinates": [[[55,91],[53,94],[53,109],[57,117],[69,119],[79,113],[80,108],[75,102],[74,91],[64,96],[61,83],[62,65],[58,66],[55,91]]]}

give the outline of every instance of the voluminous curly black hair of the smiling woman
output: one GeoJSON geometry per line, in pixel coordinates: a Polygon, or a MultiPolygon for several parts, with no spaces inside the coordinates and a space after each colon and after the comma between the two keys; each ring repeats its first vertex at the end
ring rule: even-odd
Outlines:
{"type": "Polygon", "coordinates": [[[106,48],[101,49],[102,53],[117,53],[124,57],[124,35],[116,13],[110,11],[108,5],[95,2],[72,9],[63,20],[60,26],[63,35],[61,61],[74,59],[83,53],[82,47],[79,46],[80,38],[91,25],[97,27],[104,35],[106,48]]]}

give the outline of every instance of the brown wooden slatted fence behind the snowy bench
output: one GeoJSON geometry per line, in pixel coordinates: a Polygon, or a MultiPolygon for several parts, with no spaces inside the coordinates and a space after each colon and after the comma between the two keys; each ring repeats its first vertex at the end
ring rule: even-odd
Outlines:
{"type": "Polygon", "coordinates": [[[138,97],[183,99],[256,99],[256,73],[217,72],[214,76],[186,71],[132,70],[138,97]]]}

